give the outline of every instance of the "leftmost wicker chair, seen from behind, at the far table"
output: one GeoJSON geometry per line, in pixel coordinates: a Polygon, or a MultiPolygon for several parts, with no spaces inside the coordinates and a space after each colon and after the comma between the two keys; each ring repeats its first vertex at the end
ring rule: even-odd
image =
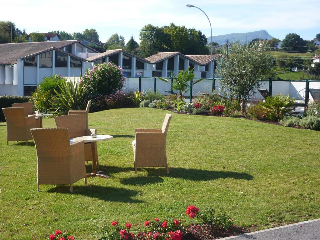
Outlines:
{"type": "Polygon", "coordinates": [[[7,145],[9,141],[26,141],[32,139],[31,128],[36,128],[34,115],[26,117],[24,108],[2,108],[7,122],[7,145]]]}

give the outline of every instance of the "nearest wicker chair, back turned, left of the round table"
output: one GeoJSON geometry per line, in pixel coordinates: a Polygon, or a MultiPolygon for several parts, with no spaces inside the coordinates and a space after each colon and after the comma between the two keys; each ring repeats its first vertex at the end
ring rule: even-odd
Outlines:
{"type": "Polygon", "coordinates": [[[84,141],[70,144],[67,128],[30,130],[37,152],[37,191],[40,184],[72,184],[87,177],[84,164],[84,141]]]}

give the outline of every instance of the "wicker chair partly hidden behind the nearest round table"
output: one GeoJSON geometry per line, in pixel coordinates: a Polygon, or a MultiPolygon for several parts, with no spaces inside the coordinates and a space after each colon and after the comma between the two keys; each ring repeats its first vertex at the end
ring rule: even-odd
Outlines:
{"type": "MultiPolygon", "coordinates": [[[[54,117],[57,127],[68,128],[70,138],[90,136],[92,133],[97,134],[97,129],[87,129],[84,114],[62,115],[54,117]]],[[[91,143],[84,144],[84,160],[92,161],[91,143]]],[[[99,168],[99,162],[97,162],[99,168]]]]}

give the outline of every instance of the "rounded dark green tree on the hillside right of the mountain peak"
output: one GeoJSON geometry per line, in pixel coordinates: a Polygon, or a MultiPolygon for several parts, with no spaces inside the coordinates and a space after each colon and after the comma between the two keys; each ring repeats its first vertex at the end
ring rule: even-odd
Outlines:
{"type": "Polygon", "coordinates": [[[284,52],[302,52],[307,51],[308,47],[305,47],[305,41],[295,33],[288,33],[282,40],[281,50],[284,52]]]}

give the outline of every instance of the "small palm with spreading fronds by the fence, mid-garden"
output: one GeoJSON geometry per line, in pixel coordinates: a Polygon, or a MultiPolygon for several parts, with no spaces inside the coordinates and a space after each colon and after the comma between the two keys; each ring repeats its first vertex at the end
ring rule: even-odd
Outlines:
{"type": "MultiPolygon", "coordinates": [[[[174,73],[171,71],[171,74],[173,76],[173,82],[171,85],[172,90],[177,90],[178,93],[178,99],[181,99],[182,96],[190,89],[190,81],[192,81],[192,79],[195,77],[195,74],[193,73],[193,69],[192,68],[190,70],[190,67],[187,68],[187,70],[183,71],[180,70],[178,72],[178,75],[174,75],[174,73]]],[[[169,78],[163,78],[163,77],[158,77],[158,79],[170,84],[170,79],[169,78]]],[[[192,84],[196,84],[200,81],[202,81],[203,78],[197,79],[195,81],[192,82],[192,84]]]]}

